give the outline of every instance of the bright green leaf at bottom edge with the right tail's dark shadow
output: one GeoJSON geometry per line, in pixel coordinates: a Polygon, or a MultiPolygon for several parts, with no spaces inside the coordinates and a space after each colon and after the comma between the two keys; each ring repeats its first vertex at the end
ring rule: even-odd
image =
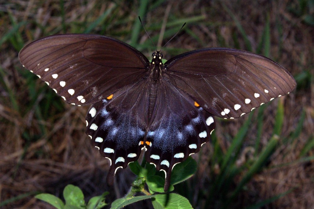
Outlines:
{"type": "MultiPolygon", "coordinates": [[[[192,208],[192,205],[190,202],[187,200],[187,198],[175,194],[175,193],[170,193],[170,194],[160,194],[155,196],[155,201],[158,202],[162,208],[171,208],[171,209],[190,209],[192,208]]],[[[157,207],[159,208],[159,207],[157,207]]]]}

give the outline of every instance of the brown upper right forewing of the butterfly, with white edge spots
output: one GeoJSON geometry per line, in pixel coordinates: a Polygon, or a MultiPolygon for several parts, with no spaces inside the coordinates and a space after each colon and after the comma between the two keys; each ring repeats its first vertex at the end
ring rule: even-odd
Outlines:
{"type": "Polygon", "coordinates": [[[292,91],[295,80],[272,60],[251,52],[206,48],[165,63],[166,73],[201,107],[221,118],[238,118],[292,91]]]}

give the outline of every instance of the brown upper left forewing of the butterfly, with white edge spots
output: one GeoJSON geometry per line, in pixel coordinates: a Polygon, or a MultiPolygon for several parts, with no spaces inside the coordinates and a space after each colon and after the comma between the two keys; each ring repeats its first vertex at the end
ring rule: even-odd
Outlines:
{"type": "Polygon", "coordinates": [[[60,34],[26,45],[19,59],[66,102],[89,105],[143,78],[149,61],[130,45],[106,36],[60,34]]]}

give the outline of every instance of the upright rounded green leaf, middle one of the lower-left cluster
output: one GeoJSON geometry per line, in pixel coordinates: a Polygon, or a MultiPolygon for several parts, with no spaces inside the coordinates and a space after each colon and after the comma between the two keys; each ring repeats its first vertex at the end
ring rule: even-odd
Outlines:
{"type": "Polygon", "coordinates": [[[77,206],[79,208],[83,208],[82,206],[85,205],[82,190],[72,184],[69,184],[64,188],[63,197],[66,205],[77,206]]]}

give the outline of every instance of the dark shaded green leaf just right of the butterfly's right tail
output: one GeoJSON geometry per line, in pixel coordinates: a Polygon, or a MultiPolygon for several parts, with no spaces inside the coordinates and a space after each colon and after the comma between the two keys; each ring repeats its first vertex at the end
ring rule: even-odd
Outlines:
{"type": "Polygon", "coordinates": [[[174,166],[171,172],[171,184],[176,185],[190,178],[197,170],[196,161],[190,156],[182,163],[174,166]]]}

